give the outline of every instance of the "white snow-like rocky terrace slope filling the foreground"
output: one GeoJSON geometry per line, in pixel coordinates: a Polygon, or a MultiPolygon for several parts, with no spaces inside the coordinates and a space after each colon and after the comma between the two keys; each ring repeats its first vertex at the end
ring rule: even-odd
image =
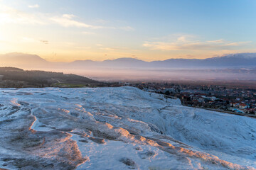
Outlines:
{"type": "Polygon", "coordinates": [[[253,169],[255,131],[132,87],[0,89],[6,169],[253,169]]]}

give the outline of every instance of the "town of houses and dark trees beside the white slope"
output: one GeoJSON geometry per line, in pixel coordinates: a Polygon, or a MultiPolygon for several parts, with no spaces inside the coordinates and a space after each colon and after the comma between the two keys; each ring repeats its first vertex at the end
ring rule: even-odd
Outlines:
{"type": "Polygon", "coordinates": [[[256,113],[256,89],[169,83],[139,83],[132,86],[180,98],[184,106],[234,113],[256,113]]]}

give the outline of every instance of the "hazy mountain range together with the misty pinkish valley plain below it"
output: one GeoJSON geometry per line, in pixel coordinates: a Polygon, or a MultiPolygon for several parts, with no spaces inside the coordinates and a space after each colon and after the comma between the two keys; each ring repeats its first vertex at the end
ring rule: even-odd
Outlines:
{"type": "Polygon", "coordinates": [[[256,80],[256,53],[239,53],[208,59],[169,59],[145,62],[134,58],[119,58],[96,62],[48,62],[38,55],[9,53],[0,55],[0,67],[18,67],[78,74],[96,80],[256,80]]]}

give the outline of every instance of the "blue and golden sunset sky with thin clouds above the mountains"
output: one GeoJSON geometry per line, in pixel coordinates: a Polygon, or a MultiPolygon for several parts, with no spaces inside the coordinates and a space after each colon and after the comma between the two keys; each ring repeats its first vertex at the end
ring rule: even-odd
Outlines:
{"type": "Polygon", "coordinates": [[[256,52],[255,0],[0,0],[0,54],[51,62],[256,52]]]}

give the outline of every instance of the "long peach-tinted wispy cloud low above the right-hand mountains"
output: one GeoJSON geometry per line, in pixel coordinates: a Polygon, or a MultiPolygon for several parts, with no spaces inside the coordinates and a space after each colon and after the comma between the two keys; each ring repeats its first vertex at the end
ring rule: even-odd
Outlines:
{"type": "Polygon", "coordinates": [[[232,50],[235,47],[247,45],[250,42],[230,42],[227,40],[208,40],[201,41],[189,38],[186,35],[181,35],[177,38],[167,41],[148,41],[144,42],[144,47],[149,47],[151,50],[232,50]]]}

